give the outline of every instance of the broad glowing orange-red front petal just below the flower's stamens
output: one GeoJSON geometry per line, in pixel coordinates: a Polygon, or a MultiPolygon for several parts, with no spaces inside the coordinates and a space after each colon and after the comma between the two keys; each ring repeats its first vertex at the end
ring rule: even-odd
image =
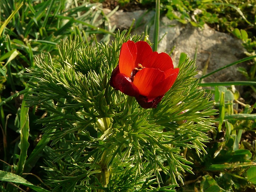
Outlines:
{"type": "Polygon", "coordinates": [[[153,87],[165,79],[163,71],[153,68],[144,68],[138,71],[134,77],[134,85],[139,89],[139,94],[147,98],[156,98],[162,94],[152,93],[153,87]]]}

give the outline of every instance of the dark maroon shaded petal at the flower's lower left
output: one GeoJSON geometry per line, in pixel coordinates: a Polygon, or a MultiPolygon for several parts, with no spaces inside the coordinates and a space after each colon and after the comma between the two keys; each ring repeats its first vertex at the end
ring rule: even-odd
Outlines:
{"type": "Polygon", "coordinates": [[[116,90],[120,90],[126,95],[132,97],[139,96],[139,89],[133,84],[129,77],[127,77],[125,74],[120,73],[118,66],[111,74],[110,86],[112,86],[116,90]]]}

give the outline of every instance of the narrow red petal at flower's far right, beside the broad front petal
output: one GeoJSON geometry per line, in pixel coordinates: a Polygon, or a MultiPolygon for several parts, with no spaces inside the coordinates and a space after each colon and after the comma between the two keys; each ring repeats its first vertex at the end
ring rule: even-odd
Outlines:
{"type": "Polygon", "coordinates": [[[174,84],[177,76],[179,73],[179,68],[176,68],[173,70],[173,74],[169,75],[165,80],[162,80],[161,82],[159,82],[158,84],[156,84],[151,92],[149,93],[149,95],[158,93],[160,95],[164,95],[170,88],[171,86],[174,84]]]}

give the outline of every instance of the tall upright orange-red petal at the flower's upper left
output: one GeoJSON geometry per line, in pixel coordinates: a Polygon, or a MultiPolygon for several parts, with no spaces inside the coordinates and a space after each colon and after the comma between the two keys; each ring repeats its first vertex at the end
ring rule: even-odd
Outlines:
{"type": "Polygon", "coordinates": [[[133,41],[123,43],[119,57],[120,73],[131,76],[132,69],[135,67],[134,60],[136,59],[136,45],[133,41]],[[133,58],[135,57],[135,58],[133,58]]]}

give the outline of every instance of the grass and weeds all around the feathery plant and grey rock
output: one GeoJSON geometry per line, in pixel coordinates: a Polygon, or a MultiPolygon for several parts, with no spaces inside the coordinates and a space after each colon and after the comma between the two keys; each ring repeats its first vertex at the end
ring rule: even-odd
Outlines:
{"type": "MultiPolygon", "coordinates": [[[[1,191],[18,190],[17,186],[20,184],[22,185],[19,190],[51,191],[56,185],[54,182],[49,182],[49,178],[55,179],[49,176],[49,172],[61,171],[63,176],[69,173],[61,159],[57,161],[57,165],[52,165],[51,162],[55,155],[53,149],[70,147],[67,141],[72,141],[73,135],[67,135],[60,144],[52,146],[49,138],[42,138],[43,126],[36,124],[35,121],[49,114],[37,110],[36,106],[25,107],[25,103],[22,102],[30,91],[27,87],[30,77],[24,75],[25,68],[37,70],[35,56],[41,53],[46,55],[49,53],[54,60],[61,61],[57,45],[61,45],[62,39],[77,37],[77,42],[81,46],[88,47],[94,46],[97,42],[111,43],[110,38],[114,37],[117,29],[111,26],[109,16],[118,7],[108,15],[102,11],[103,5],[112,5],[111,3],[127,10],[137,7],[155,10],[156,6],[156,2],[150,0],[118,2],[1,0],[1,191]]],[[[178,181],[180,187],[175,188],[177,191],[255,191],[255,5],[254,0],[165,0],[159,5],[160,14],[170,19],[194,27],[203,27],[203,24],[207,23],[216,30],[241,39],[248,57],[230,65],[249,61],[249,70],[238,68],[245,75],[246,81],[221,82],[223,86],[214,82],[208,84],[212,88],[207,91],[214,94],[215,108],[219,109],[220,113],[214,116],[217,121],[216,128],[208,133],[212,140],[205,143],[207,154],[198,156],[198,151],[195,149],[181,147],[179,154],[194,163],[190,165],[194,175],[182,173],[184,185],[178,181]],[[199,11],[197,12],[199,14],[194,14],[195,11],[199,11]],[[177,12],[180,14],[176,14],[177,12]],[[244,85],[243,95],[234,91],[232,85],[244,85]],[[245,100],[241,100],[241,97],[245,100]]],[[[147,31],[144,35],[147,35],[147,31]]],[[[184,61],[185,55],[182,54],[180,62],[184,61]]],[[[201,79],[204,77],[206,76],[201,79]]],[[[164,176],[162,172],[160,174],[163,183],[168,185],[170,178],[164,176]]]]}

